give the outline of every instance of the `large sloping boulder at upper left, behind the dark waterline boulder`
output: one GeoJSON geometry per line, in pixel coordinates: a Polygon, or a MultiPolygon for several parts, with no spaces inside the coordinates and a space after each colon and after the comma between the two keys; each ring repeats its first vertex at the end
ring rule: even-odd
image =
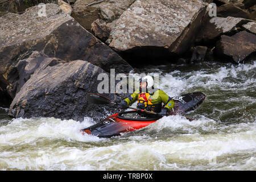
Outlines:
{"type": "MultiPolygon", "coordinates": [[[[129,72],[131,66],[111,48],[80,26],[58,5],[47,4],[46,12],[34,6],[25,13],[0,17],[0,85],[15,92],[12,85],[16,64],[33,51],[64,61],[85,60],[109,72],[129,72]],[[42,16],[43,15],[43,16],[42,16]]],[[[9,92],[9,93],[11,93],[9,92]]]]}

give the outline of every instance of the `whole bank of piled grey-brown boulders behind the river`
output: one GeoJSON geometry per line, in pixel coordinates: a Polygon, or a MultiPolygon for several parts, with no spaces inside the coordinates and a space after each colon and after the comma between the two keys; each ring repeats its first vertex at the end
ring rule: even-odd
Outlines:
{"type": "Polygon", "coordinates": [[[0,0],[0,105],[12,117],[81,121],[115,112],[85,98],[110,69],[256,57],[253,0],[41,2],[0,0]],[[217,16],[209,16],[209,3],[217,16]]]}

